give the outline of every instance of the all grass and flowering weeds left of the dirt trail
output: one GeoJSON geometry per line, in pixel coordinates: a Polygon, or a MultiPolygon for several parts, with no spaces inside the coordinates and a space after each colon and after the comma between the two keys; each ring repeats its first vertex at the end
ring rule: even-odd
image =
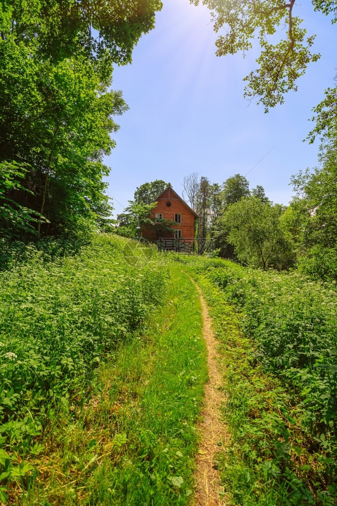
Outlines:
{"type": "Polygon", "coordinates": [[[2,427],[4,493],[38,506],[189,503],[207,379],[195,286],[121,238],[98,237],[53,262],[36,255],[3,273],[3,329],[16,314],[6,352],[17,355],[3,374],[14,385],[26,378],[2,427]],[[32,355],[34,346],[49,354],[32,355]]]}

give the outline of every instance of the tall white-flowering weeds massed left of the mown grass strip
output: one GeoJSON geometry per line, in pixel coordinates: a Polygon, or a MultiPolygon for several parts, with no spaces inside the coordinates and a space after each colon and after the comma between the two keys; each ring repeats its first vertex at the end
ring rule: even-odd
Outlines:
{"type": "Polygon", "coordinates": [[[18,476],[13,464],[34,451],[48,419],[83,404],[98,363],[161,301],[165,268],[154,250],[136,246],[99,235],[72,255],[63,244],[62,256],[61,241],[40,241],[0,272],[2,479],[18,476]]]}

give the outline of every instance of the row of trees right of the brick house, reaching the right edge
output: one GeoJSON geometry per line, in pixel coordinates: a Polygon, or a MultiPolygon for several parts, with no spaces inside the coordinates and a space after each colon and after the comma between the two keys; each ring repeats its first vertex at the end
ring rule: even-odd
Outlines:
{"type": "Polygon", "coordinates": [[[288,269],[316,278],[337,277],[337,142],[320,149],[319,167],[292,177],[288,206],[273,203],[264,188],[250,190],[240,175],[222,185],[190,174],[184,193],[200,216],[201,237],[214,239],[220,256],[244,265],[288,269]]]}

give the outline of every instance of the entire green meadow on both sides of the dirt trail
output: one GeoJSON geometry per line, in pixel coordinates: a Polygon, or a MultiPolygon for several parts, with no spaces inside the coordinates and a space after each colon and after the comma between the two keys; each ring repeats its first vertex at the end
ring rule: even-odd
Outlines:
{"type": "Polygon", "coordinates": [[[194,503],[208,376],[190,276],[219,340],[228,506],[335,503],[335,283],[109,234],[15,243],[1,267],[1,504],[194,503]]]}

